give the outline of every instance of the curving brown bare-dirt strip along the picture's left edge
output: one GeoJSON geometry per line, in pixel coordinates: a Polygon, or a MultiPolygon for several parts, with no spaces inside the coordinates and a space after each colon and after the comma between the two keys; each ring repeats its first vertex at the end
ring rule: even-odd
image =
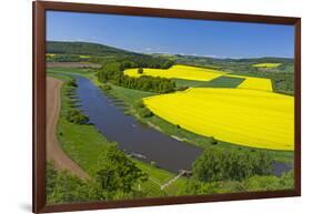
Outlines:
{"type": "Polygon", "coordinates": [[[79,177],[90,179],[90,176],[64,153],[57,139],[62,83],[61,80],[47,78],[47,160],[53,160],[58,170],[68,170],[79,177]]]}

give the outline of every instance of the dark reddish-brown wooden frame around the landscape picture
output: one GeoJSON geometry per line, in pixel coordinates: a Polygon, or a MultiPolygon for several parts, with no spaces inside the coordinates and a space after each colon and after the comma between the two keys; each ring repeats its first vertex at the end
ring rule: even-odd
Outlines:
{"type": "Polygon", "coordinates": [[[117,7],[103,4],[64,3],[34,1],[33,3],[33,212],[61,212],[129,206],[150,206],[182,203],[202,203],[301,195],[301,19],[258,14],[236,14],[189,10],[117,7]],[[112,13],[163,18],[185,18],[218,21],[239,21],[295,27],[294,47],[294,101],[295,101],[295,146],[294,146],[294,190],[218,195],[177,196],[112,202],[92,202],[47,205],[44,192],[46,173],[46,11],[73,11],[112,13]]]}

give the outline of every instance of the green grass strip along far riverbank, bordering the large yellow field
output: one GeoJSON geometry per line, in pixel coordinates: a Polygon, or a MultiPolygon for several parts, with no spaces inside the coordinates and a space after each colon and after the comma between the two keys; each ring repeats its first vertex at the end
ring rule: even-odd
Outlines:
{"type": "MultiPolygon", "coordinates": [[[[94,73],[90,72],[87,69],[68,69],[68,68],[54,68],[52,70],[49,69],[50,73],[69,73],[69,74],[80,74],[85,78],[89,78],[95,85],[100,85],[101,83],[98,81],[98,79],[94,77],[94,73]]],[[[233,151],[244,151],[246,153],[253,152],[253,151],[265,151],[269,153],[274,161],[282,162],[282,163],[293,163],[293,152],[290,151],[274,151],[274,150],[263,150],[263,149],[255,149],[255,147],[249,147],[249,146],[242,146],[242,145],[235,145],[231,142],[224,142],[224,141],[218,141],[217,143],[212,142],[211,137],[207,137],[203,135],[199,135],[192,132],[189,132],[184,129],[178,128],[177,125],[169,123],[168,121],[153,115],[151,118],[142,118],[137,113],[135,104],[143,98],[157,95],[157,93],[152,92],[143,92],[139,90],[133,89],[127,89],[122,86],[117,86],[111,84],[112,90],[105,92],[109,93],[117,99],[122,100],[128,106],[129,110],[127,110],[127,113],[132,114],[138,120],[140,120],[142,123],[150,125],[160,132],[177,137],[185,143],[190,143],[192,145],[197,145],[203,149],[210,149],[214,147],[218,150],[233,150],[233,151]]]]}

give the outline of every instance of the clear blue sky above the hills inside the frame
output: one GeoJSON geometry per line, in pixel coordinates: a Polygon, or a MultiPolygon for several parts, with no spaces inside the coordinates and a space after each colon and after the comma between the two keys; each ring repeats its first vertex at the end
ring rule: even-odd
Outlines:
{"type": "Polygon", "coordinates": [[[48,11],[47,40],[89,41],[144,53],[293,58],[294,28],[48,11]]]}

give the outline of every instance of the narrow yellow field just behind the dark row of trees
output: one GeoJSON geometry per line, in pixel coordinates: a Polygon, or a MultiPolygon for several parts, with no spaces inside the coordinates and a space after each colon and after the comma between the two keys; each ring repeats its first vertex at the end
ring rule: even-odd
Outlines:
{"type": "Polygon", "coordinates": [[[151,75],[151,77],[161,77],[168,79],[184,79],[184,80],[198,80],[198,81],[210,81],[215,78],[221,77],[224,72],[213,69],[203,69],[197,67],[188,67],[177,64],[170,69],[143,69],[143,73],[138,73],[138,69],[128,69],[124,71],[125,75],[129,77],[141,77],[141,75],[151,75]]]}

